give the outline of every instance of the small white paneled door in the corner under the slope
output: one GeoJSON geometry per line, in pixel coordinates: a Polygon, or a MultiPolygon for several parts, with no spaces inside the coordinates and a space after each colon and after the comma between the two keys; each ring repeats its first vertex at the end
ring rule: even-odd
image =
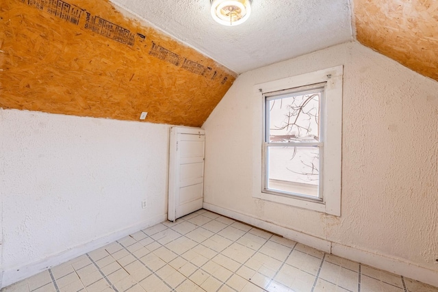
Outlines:
{"type": "Polygon", "coordinates": [[[204,149],[204,130],[184,127],[170,129],[170,221],[203,207],[204,149]]]}

